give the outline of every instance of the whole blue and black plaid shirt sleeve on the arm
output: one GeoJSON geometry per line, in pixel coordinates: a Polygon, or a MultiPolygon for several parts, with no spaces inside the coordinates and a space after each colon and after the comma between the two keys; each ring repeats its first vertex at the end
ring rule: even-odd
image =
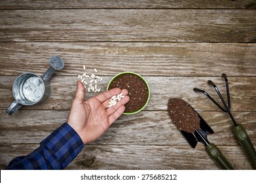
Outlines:
{"type": "Polygon", "coordinates": [[[83,147],[77,132],[64,123],[46,137],[31,154],[12,159],[6,169],[65,169],[83,147]]]}

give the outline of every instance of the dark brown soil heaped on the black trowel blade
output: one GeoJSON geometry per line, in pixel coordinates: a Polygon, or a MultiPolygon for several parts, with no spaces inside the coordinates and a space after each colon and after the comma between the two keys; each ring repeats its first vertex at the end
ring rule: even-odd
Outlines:
{"type": "Polygon", "coordinates": [[[194,133],[200,128],[200,118],[196,111],[181,99],[168,101],[168,113],[179,130],[194,133]]]}

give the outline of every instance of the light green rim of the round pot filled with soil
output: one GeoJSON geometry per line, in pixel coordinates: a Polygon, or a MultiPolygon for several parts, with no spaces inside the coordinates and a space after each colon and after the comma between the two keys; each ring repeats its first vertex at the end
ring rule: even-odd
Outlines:
{"type": "Polygon", "coordinates": [[[117,79],[119,76],[122,76],[122,75],[136,75],[138,76],[147,86],[147,93],[148,96],[147,96],[147,101],[145,102],[145,104],[139,108],[138,110],[135,110],[135,111],[131,111],[131,112],[124,112],[123,114],[136,114],[137,112],[141,111],[143,108],[146,107],[147,103],[149,103],[149,98],[150,98],[150,90],[149,90],[149,84],[147,84],[147,81],[141,76],[141,75],[138,75],[137,73],[132,73],[132,72],[124,72],[124,73],[119,73],[118,75],[115,75],[110,81],[109,81],[109,84],[107,85],[107,90],[109,90],[109,87],[111,86],[113,80],[117,79]]]}

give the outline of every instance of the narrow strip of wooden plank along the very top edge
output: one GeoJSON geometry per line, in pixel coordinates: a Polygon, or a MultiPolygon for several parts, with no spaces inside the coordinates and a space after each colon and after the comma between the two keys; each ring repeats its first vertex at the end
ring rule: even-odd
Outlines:
{"type": "Polygon", "coordinates": [[[73,0],[73,1],[0,1],[0,9],[51,9],[51,8],[255,8],[254,0],[73,0]]]}

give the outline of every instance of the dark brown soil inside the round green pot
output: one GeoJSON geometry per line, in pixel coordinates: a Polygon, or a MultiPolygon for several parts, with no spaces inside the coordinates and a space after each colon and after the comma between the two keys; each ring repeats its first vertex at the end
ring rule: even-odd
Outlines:
{"type": "Polygon", "coordinates": [[[128,90],[130,101],[126,103],[124,112],[134,112],[139,110],[145,105],[149,95],[145,82],[143,82],[139,76],[130,73],[115,78],[109,86],[109,89],[111,88],[128,90]]]}

